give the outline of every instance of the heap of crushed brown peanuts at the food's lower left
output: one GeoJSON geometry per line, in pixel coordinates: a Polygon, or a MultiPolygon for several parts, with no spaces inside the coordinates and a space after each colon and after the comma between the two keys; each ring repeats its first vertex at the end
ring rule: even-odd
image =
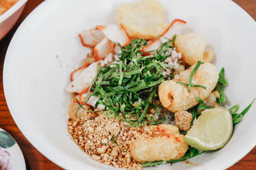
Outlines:
{"type": "Polygon", "coordinates": [[[150,137],[147,128],[126,127],[124,121],[106,118],[101,112],[97,116],[68,119],[68,132],[93,160],[126,169],[141,169],[141,164],[131,157],[129,151],[132,140],[138,136],[150,137]],[[118,145],[111,141],[112,137],[118,145]]]}

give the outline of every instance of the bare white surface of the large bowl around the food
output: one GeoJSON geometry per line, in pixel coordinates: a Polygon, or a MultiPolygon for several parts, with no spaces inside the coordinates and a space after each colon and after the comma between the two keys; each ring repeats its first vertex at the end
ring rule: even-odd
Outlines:
{"type": "MultiPolygon", "coordinates": [[[[65,91],[72,70],[90,52],[78,34],[96,25],[115,22],[126,1],[44,1],[20,25],[4,61],[3,85],[15,123],[35,148],[64,169],[106,169],[81,151],[67,132],[70,94],[65,91]]],[[[226,107],[246,107],[256,97],[256,24],[232,1],[161,1],[169,20],[187,21],[186,31],[201,33],[215,64],[225,67],[226,107]]],[[[173,169],[226,169],[256,144],[256,104],[236,125],[228,144],[173,169]]],[[[110,167],[108,167],[110,168],[110,167]]]]}

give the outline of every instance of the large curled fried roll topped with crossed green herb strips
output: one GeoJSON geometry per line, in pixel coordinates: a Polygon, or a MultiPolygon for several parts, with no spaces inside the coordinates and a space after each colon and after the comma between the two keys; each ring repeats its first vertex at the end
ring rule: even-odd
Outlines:
{"type": "Polygon", "coordinates": [[[206,89],[193,87],[189,92],[188,86],[177,83],[184,82],[188,84],[189,75],[194,68],[195,65],[180,72],[180,75],[175,76],[173,80],[164,81],[160,84],[158,95],[163,107],[172,112],[186,111],[198,104],[195,97],[202,100],[209,97],[219,79],[217,68],[211,63],[200,65],[192,79],[192,84],[205,86],[206,89]]]}

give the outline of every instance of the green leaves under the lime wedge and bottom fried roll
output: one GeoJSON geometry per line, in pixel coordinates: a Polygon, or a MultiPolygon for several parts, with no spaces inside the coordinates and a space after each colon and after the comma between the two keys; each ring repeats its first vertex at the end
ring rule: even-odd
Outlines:
{"type": "MultiPolygon", "coordinates": [[[[174,159],[174,160],[168,160],[168,161],[166,161],[166,163],[180,162],[182,160],[186,160],[186,159],[189,159],[189,158],[196,157],[196,156],[198,156],[202,153],[204,153],[204,151],[200,152],[200,151],[196,150],[196,148],[190,147],[189,150],[185,153],[185,155],[182,158],[174,159]]],[[[163,164],[163,162],[164,162],[163,160],[154,161],[154,162],[145,162],[144,164],[142,164],[142,166],[156,166],[156,165],[159,165],[159,164],[163,164]]]]}

